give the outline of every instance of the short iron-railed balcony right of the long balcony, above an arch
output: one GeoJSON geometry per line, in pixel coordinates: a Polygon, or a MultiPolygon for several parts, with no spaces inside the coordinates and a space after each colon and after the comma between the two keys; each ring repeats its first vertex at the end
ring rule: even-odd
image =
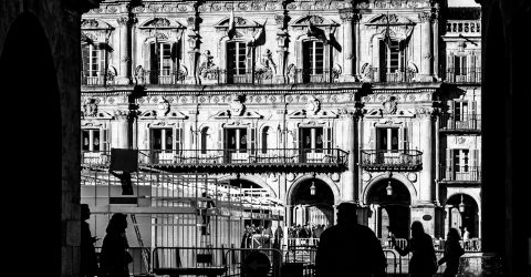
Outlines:
{"type": "Polygon", "coordinates": [[[362,150],[360,165],[366,171],[418,171],[423,152],[417,150],[362,150]]]}

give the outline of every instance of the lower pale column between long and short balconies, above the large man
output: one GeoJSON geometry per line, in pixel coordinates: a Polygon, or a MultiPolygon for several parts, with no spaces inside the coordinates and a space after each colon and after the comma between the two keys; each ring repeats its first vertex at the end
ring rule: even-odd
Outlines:
{"type": "Polygon", "coordinates": [[[348,168],[343,173],[342,182],[342,201],[343,202],[354,202],[357,201],[356,195],[356,146],[355,146],[355,129],[356,120],[354,113],[350,112],[343,114],[342,117],[346,122],[346,132],[343,132],[343,142],[346,143],[345,148],[348,151],[348,168]]]}

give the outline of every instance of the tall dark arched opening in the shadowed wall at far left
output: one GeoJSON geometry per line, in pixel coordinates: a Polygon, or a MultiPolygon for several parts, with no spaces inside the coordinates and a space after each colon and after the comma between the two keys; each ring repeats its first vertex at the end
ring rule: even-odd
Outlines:
{"type": "MultiPolygon", "coordinates": [[[[9,264],[12,268],[23,268],[27,276],[40,275],[42,270],[50,276],[61,276],[62,245],[70,242],[62,237],[62,214],[70,218],[75,212],[62,211],[62,185],[75,181],[69,176],[62,179],[62,153],[71,150],[72,144],[77,147],[79,144],[64,142],[62,147],[58,74],[48,38],[33,14],[22,13],[11,24],[0,57],[0,75],[6,92],[2,100],[20,107],[12,117],[2,121],[4,133],[0,141],[13,153],[4,156],[9,162],[3,163],[3,170],[11,184],[7,183],[2,193],[17,198],[10,203],[14,205],[10,212],[3,214],[4,223],[13,227],[4,246],[14,252],[11,256],[17,258],[9,264]],[[37,237],[40,238],[38,247],[37,237]],[[21,258],[28,256],[29,249],[35,257],[30,267],[28,260],[21,258]]],[[[79,116],[76,119],[69,127],[77,126],[79,132],[79,116]]],[[[74,175],[79,171],[65,174],[74,175]]],[[[64,194],[74,192],[65,189],[64,194]]]]}

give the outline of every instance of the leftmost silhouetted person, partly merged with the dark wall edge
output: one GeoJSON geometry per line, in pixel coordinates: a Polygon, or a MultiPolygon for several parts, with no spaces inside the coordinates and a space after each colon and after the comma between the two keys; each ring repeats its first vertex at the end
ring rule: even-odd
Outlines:
{"type": "Polygon", "coordinates": [[[83,277],[97,275],[97,258],[94,243],[96,237],[91,235],[91,228],[85,220],[91,218],[91,209],[87,204],[81,204],[81,267],[80,274],[83,277]]]}

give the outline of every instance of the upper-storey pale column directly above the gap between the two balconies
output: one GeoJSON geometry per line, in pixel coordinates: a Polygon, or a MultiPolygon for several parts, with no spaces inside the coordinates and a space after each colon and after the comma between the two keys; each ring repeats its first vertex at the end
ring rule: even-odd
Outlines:
{"type": "Polygon", "coordinates": [[[352,8],[344,8],[340,9],[340,17],[343,22],[343,74],[340,79],[342,82],[354,82],[356,81],[354,62],[357,60],[355,41],[358,38],[355,38],[353,22],[357,13],[354,13],[352,8]]]}

